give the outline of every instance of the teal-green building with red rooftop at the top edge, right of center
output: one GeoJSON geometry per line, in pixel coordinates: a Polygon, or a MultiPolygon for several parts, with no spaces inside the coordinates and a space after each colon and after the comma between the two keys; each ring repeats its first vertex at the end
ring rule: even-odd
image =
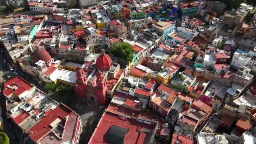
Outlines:
{"type": "Polygon", "coordinates": [[[198,3],[195,3],[195,2],[181,3],[178,8],[178,14],[180,17],[197,13],[197,11],[198,11],[198,3]]]}

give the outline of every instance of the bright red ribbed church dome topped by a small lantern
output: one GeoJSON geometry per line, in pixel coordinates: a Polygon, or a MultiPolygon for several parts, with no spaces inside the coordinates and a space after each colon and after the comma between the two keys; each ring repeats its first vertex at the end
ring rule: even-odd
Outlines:
{"type": "Polygon", "coordinates": [[[105,54],[105,50],[101,49],[101,55],[96,60],[96,65],[99,70],[106,71],[113,65],[112,59],[105,54]]]}

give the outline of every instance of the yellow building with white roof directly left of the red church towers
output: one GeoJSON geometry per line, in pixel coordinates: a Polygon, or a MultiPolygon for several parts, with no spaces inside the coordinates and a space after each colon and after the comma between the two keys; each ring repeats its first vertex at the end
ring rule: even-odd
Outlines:
{"type": "Polygon", "coordinates": [[[62,69],[58,73],[58,77],[56,79],[56,86],[63,86],[66,89],[71,89],[76,83],[76,73],[62,69]]]}

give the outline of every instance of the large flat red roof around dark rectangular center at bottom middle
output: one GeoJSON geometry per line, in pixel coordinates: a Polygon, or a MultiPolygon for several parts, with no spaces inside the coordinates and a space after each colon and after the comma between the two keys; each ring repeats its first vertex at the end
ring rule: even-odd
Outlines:
{"type": "Polygon", "coordinates": [[[156,127],[155,124],[146,124],[133,118],[123,118],[113,112],[105,111],[92,134],[89,144],[109,144],[106,135],[113,125],[129,129],[124,137],[124,144],[135,144],[138,141],[139,144],[144,144],[149,137],[148,133],[144,133],[142,130],[152,131],[156,127]]]}

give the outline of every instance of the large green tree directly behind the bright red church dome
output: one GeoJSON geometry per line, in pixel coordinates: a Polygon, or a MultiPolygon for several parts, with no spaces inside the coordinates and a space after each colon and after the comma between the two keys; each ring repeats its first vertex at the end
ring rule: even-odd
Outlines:
{"type": "Polygon", "coordinates": [[[118,58],[132,62],[134,49],[129,43],[115,42],[110,49],[110,53],[118,58]]]}

